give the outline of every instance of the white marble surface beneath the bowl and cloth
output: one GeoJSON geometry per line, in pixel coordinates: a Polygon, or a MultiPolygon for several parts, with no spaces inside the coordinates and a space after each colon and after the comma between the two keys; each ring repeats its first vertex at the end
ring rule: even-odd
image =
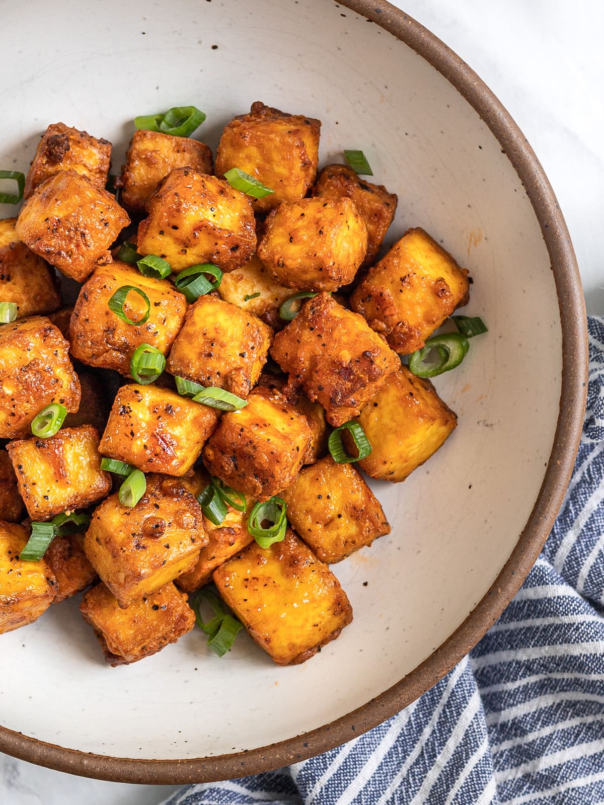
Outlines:
{"type": "MultiPolygon", "coordinates": [[[[396,0],[507,107],[569,225],[590,313],[604,315],[604,57],[600,0],[396,0]]],[[[154,805],[171,786],[76,778],[0,755],[0,805],[154,805]]]]}

